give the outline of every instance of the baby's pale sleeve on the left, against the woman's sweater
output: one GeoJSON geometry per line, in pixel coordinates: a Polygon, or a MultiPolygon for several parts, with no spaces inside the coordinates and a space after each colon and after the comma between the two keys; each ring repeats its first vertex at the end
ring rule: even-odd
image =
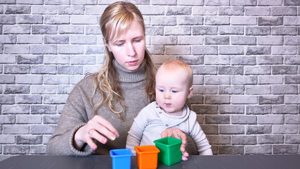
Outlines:
{"type": "Polygon", "coordinates": [[[126,149],[131,149],[134,155],[136,155],[135,146],[139,146],[143,137],[143,132],[148,123],[148,107],[146,106],[140,113],[134,118],[134,122],[127,135],[126,149]]]}

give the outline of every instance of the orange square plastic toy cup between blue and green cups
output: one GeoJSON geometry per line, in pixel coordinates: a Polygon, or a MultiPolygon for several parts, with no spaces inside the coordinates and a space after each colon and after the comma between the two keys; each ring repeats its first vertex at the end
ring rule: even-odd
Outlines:
{"type": "Polygon", "coordinates": [[[157,168],[157,154],[159,149],[156,146],[136,146],[136,163],[139,169],[157,168]]]}

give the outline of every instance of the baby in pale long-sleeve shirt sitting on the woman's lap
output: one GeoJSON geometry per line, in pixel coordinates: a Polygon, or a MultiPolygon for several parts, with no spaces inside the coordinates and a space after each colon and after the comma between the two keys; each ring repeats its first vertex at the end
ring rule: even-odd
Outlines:
{"type": "Polygon", "coordinates": [[[155,145],[161,132],[176,127],[190,135],[200,155],[212,155],[211,146],[197,122],[197,115],[185,104],[193,93],[193,70],[183,61],[167,61],[155,77],[156,101],[145,106],[134,119],[127,136],[126,148],[155,145]]]}

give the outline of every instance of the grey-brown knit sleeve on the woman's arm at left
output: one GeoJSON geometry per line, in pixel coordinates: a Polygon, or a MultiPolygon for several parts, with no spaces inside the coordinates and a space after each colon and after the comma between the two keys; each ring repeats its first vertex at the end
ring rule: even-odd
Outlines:
{"type": "Polygon", "coordinates": [[[93,153],[87,144],[79,151],[74,148],[73,138],[77,130],[88,122],[80,89],[75,86],[70,93],[55,132],[47,144],[48,155],[88,156],[93,153]]]}

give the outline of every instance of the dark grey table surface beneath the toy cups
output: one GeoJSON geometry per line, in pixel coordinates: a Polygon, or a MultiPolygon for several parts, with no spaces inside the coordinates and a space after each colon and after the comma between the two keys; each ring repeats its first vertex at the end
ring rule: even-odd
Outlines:
{"type": "MultiPolygon", "coordinates": [[[[91,169],[112,168],[110,156],[13,156],[0,161],[2,169],[91,169]]],[[[138,168],[136,156],[131,158],[131,168],[138,168]]],[[[299,169],[300,154],[293,155],[235,155],[235,156],[190,156],[188,161],[181,161],[174,165],[157,164],[157,168],[230,168],[230,169],[299,169]]]]}

